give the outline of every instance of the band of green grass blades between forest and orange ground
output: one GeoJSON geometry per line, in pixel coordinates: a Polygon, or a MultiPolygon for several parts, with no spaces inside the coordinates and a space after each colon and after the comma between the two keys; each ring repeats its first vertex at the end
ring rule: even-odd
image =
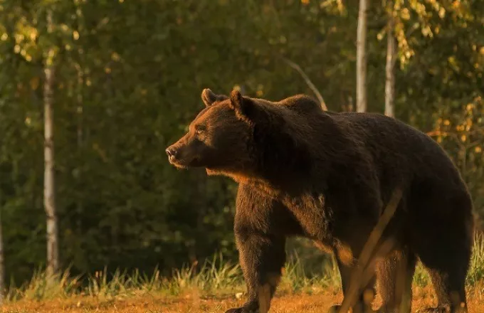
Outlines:
{"type": "MultiPolygon", "coordinates": [[[[285,265],[284,275],[280,281],[279,292],[312,293],[340,287],[340,277],[335,262],[325,262],[322,268],[308,272],[305,260],[297,253],[293,253],[290,261],[285,265]]],[[[475,287],[484,282],[484,235],[476,235],[473,257],[468,273],[468,287],[475,287]]],[[[414,275],[414,284],[425,287],[430,283],[426,270],[419,264],[414,275]]],[[[195,266],[182,267],[174,270],[171,277],[162,277],[159,270],[152,275],[132,273],[109,273],[107,269],[95,272],[87,277],[73,277],[66,270],[49,280],[45,273],[36,272],[31,281],[6,292],[5,301],[14,302],[19,299],[43,300],[67,298],[76,295],[112,299],[131,297],[156,292],[167,297],[177,297],[188,292],[196,292],[202,296],[223,297],[224,295],[243,295],[246,287],[243,282],[241,268],[223,260],[221,255],[215,255],[196,270],[195,266]],[[110,274],[110,275],[108,275],[110,274]],[[108,279],[108,277],[110,277],[108,279]],[[87,280],[87,283],[85,282],[87,280]],[[84,282],[81,284],[81,282],[84,282]]]]}

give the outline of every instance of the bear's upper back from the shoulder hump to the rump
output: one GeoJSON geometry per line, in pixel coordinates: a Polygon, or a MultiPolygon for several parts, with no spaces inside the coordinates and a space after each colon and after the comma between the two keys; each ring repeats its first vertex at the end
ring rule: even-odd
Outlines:
{"type": "Polygon", "coordinates": [[[364,153],[371,154],[375,165],[385,172],[385,176],[433,176],[438,171],[441,178],[446,177],[456,183],[461,180],[456,166],[437,142],[419,129],[392,117],[368,112],[325,111],[307,95],[294,95],[279,102],[263,101],[295,113],[286,117],[294,119],[295,124],[302,128],[312,129],[315,136],[312,137],[313,143],[317,146],[328,147],[327,140],[332,139],[327,134],[332,133],[336,137],[346,137],[344,142],[351,146],[363,147],[364,153]]]}

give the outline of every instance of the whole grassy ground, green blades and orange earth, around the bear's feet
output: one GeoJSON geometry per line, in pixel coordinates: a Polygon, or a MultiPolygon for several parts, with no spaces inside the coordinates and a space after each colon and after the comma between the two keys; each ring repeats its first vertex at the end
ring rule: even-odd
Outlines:
{"type": "MultiPolygon", "coordinates": [[[[467,287],[470,302],[478,305],[484,303],[484,235],[476,235],[475,239],[467,287]]],[[[104,269],[88,277],[73,277],[66,270],[48,280],[38,271],[30,282],[6,292],[1,312],[154,313],[162,312],[162,307],[163,312],[224,312],[223,309],[241,304],[245,291],[239,265],[215,255],[199,270],[195,266],[182,267],[174,270],[172,277],[162,277],[159,270],[142,275],[138,271],[109,273],[104,269]],[[191,311],[191,307],[199,309],[191,311]]],[[[340,302],[340,277],[335,263],[308,272],[305,262],[294,253],[285,266],[276,296],[280,298],[275,300],[278,304],[271,312],[321,312],[323,307],[340,302]]],[[[435,302],[430,279],[421,264],[414,276],[414,298],[416,306],[435,302]]],[[[484,304],[481,305],[475,312],[484,312],[484,304]]]]}

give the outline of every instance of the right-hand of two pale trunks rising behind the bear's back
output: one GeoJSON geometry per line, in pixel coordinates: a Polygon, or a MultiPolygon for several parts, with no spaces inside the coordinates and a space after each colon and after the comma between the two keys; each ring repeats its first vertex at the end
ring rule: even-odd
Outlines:
{"type": "MultiPolygon", "coordinates": [[[[393,10],[393,6],[391,6],[393,10]]],[[[390,11],[391,12],[391,11],[390,11]]],[[[395,100],[395,58],[396,58],[396,41],[394,36],[394,17],[389,14],[388,25],[386,30],[386,75],[385,75],[385,115],[394,117],[394,100],[395,100]]]]}

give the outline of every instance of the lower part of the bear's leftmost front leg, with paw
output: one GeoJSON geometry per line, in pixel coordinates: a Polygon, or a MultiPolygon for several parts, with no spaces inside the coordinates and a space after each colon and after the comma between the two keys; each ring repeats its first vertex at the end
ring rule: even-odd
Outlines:
{"type": "Polygon", "coordinates": [[[285,238],[236,229],[239,259],[248,299],[242,307],[226,313],[265,313],[270,307],[285,263],[285,238]]]}

